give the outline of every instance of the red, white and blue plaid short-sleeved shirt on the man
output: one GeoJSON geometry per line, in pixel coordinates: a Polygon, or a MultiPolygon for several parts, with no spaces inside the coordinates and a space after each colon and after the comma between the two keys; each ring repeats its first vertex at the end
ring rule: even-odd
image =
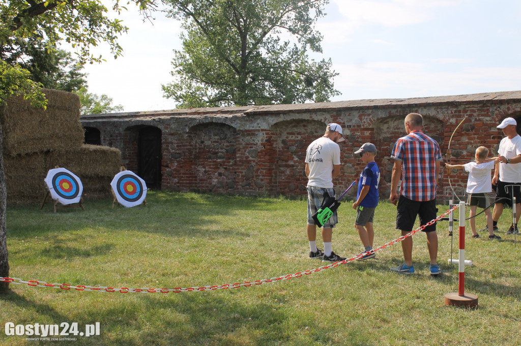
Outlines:
{"type": "Polygon", "coordinates": [[[400,194],[415,201],[436,198],[436,161],[441,161],[436,140],[419,130],[396,141],[391,158],[402,161],[400,194]]]}

